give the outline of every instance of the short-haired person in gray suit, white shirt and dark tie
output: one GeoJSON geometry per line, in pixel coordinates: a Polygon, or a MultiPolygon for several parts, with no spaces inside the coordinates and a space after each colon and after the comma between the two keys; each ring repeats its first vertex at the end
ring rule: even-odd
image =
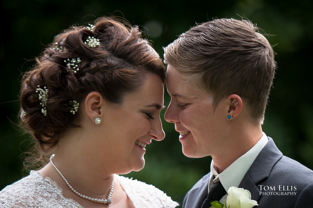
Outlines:
{"type": "Polygon", "coordinates": [[[258,28],[248,20],[214,19],[164,52],[171,96],[165,119],[175,123],[184,155],[212,156],[211,171],[182,207],[223,203],[231,186],[248,190],[258,207],[311,207],[313,171],[283,156],[262,132],[276,63],[258,28]]]}

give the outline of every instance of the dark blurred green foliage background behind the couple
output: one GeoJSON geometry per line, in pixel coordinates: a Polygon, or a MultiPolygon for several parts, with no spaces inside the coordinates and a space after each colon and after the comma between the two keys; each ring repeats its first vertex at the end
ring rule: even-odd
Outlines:
{"type": "MultiPolygon", "coordinates": [[[[264,29],[277,53],[278,70],[265,114],[264,132],[284,155],[313,169],[312,1],[1,1],[0,190],[25,176],[21,153],[28,135],[18,129],[21,73],[60,31],[96,17],[124,16],[139,25],[163,57],[167,46],[196,23],[213,17],[246,17],[264,29]]],[[[165,93],[165,104],[169,103],[165,93]]],[[[162,111],[162,117],[165,111],[162,111]]],[[[181,152],[178,133],[163,119],[166,138],[147,147],[146,166],[127,176],[153,184],[179,203],[191,186],[209,172],[210,157],[192,159],[181,152]]]]}

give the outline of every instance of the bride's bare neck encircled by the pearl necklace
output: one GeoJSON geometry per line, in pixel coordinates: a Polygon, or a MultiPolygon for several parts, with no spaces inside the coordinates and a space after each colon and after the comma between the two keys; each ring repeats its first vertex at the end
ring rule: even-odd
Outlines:
{"type": "MultiPolygon", "coordinates": [[[[82,128],[63,133],[59,138],[53,162],[76,191],[92,198],[106,198],[114,172],[109,162],[105,167],[95,162],[93,158],[96,157],[97,152],[86,147],[86,141],[89,140],[82,128]]],[[[110,158],[103,158],[103,161],[110,161],[110,158]]],[[[52,179],[58,180],[55,182],[59,186],[64,185],[66,189],[69,189],[51,163],[41,169],[40,173],[50,178],[53,177],[52,179]]]]}

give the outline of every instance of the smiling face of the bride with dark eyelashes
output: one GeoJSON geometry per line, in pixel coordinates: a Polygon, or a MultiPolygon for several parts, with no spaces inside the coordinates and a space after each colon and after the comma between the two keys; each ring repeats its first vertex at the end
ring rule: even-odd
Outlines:
{"type": "Polygon", "coordinates": [[[98,155],[94,156],[99,164],[113,168],[117,174],[144,167],[146,146],[165,137],[160,119],[163,93],[161,78],[148,74],[138,91],[124,96],[121,106],[104,106],[95,151],[98,155]]]}

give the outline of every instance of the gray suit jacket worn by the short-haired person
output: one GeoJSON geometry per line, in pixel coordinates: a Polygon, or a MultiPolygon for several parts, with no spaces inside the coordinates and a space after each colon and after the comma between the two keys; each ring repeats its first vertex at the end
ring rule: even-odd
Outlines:
{"type": "MultiPolygon", "coordinates": [[[[257,208],[313,207],[313,171],[283,156],[272,138],[254,160],[239,184],[250,191],[257,208]]],[[[210,173],[186,194],[183,208],[201,208],[208,195],[210,173]]],[[[227,190],[226,190],[227,191],[227,190]]]]}

